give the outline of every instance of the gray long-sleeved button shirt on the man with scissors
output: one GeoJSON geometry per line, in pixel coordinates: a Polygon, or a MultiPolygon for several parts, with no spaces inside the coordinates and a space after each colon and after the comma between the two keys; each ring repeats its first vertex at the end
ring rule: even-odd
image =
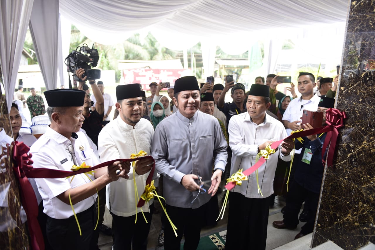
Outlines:
{"type": "Polygon", "coordinates": [[[165,176],[163,194],[168,205],[199,208],[210,200],[211,194],[204,193],[191,203],[198,191],[186,190],[180,181],[188,174],[209,180],[212,165],[224,171],[227,144],[215,117],[196,111],[188,119],[177,111],[157,125],[151,148],[156,170],[165,176]]]}

